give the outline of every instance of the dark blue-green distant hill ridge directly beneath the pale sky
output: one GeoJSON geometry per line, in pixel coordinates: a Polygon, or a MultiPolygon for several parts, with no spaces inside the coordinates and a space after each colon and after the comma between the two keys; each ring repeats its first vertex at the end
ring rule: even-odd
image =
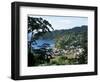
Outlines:
{"type": "Polygon", "coordinates": [[[82,25],[81,27],[73,27],[72,29],[54,30],[51,33],[46,33],[41,39],[54,39],[57,36],[63,36],[71,33],[84,33],[87,32],[88,26],[82,25]]]}

